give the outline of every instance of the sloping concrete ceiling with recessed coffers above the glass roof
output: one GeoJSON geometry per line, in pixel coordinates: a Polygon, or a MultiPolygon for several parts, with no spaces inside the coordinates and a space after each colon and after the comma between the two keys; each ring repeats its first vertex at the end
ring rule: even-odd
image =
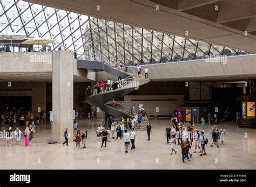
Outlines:
{"type": "Polygon", "coordinates": [[[256,52],[255,0],[25,1],[256,52]]]}

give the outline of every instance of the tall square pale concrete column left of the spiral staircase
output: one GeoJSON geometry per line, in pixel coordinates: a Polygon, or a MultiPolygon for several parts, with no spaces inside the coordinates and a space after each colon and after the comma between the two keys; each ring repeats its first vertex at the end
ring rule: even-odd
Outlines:
{"type": "Polygon", "coordinates": [[[73,55],[72,52],[52,53],[53,140],[64,142],[63,133],[69,128],[73,141],[73,55]]]}

